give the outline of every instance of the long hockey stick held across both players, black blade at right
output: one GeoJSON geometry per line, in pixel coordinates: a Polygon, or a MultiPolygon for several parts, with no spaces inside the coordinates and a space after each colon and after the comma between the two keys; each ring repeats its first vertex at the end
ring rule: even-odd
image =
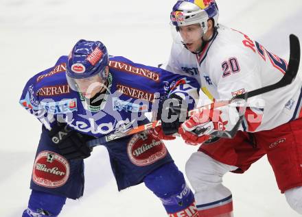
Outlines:
{"type": "MultiPolygon", "coordinates": [[[[300,62],[300,43],[299,38],[297,36],[294,36],[293,34],[290,34],[290,60],[288,61],[288,68],[286,70],[285,75],[283,75],[282,79],[278,81],[276,84],[272,84],[270,86],[266,86],[263,88],[258,88],[256,90],[252,90],[250,92],[246,92],[244,94],[238,94],[237,96],[233,97],[230,100],[227,101],[216,101],[214,103],[211,103],[209,105],[204,105],[202,107],[198,107],[194,110],[191,110],[188,112],[188,116],[191,116],[192,114],[196,112],[201,112],[204,109],[213,109],[217,107],[222,107],[224,105],[229,105],[236,100],[244,100],[246,101],[248,98],[255,97],[259,94],[264,94],[266,92],[270,92],[272,90],[282,88],[284,86],[287,86],[288,84],[291,84],[294,78],[297,76],[298,69],[299,69],[299,62],[300,62]]],[[[240,127],[244,115],[240,115],[240,119],[237,121],[235,127],[231,129],[231,131],[216,131],[213,132],[212,136],[218,136],[218,137],[224,137],[224,138],[232,138],[235,133],[237,132],[237,129],[240,127]]],[[[88,141],[86,144],[89,146],[97,146],[100,144],[104,144],[105,142],[110,142],[112,140],[116,140],[119,138],[123,138],[125,136],[130,136],[134,133],[139,133],[141,131],[144,131],[146,129],[151,129],[157,126],[161,125],[161,120],[155,120],[152,123],[148,123],[146,125],[140,125],[136,128],[129,128],[131,123],[128,125],[125,125],[124,127],[120,127],[117,130],[115,130],[113,133],[109,133],[108,135],[102,136],[100,138],[95,138],[94,140],[88,141]]]]}

